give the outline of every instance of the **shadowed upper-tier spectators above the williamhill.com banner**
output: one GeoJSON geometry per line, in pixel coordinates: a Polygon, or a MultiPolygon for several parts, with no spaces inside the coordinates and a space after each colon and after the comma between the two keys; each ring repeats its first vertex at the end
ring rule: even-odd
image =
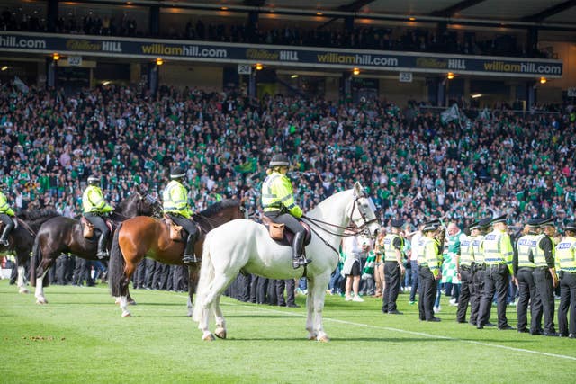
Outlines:
{"type": "MultiPolygon", "coordinates": [[[[119,13],[120,14],[120,13],[119,13]]],[[[156,37],[201,41],[220,41],[253,44],[274,44],[342,49],[378,49],[416,52],[439,52],[464,55],[491,55],[546,58],[544,51],[527,49],[509,34],[494,35],[478,40],[474,32],[432,31],[423,28],[363,26],[347,30],[342,27],[264,26],[258,22],[211,23],[202,19],[181,24],[161,23],[156,37]]],[[[34,11],[15,13],[5,9],[0,17],[0,29],[8,31],[48,31],[46,18],[34,11]]],[[[145,27],[138,26],[129,13],[121,17],[100,16],[90,11],[80,17],[76,14],[61,16],[56,22],[58,33],[152,37],[145,27]]],[[[524,41],[525,39],[523,39],[524,41]]]]}

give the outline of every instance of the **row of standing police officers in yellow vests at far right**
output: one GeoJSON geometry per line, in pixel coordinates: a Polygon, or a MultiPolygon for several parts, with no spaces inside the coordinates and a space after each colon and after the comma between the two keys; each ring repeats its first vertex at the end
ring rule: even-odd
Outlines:
{"type": "MultiPolygon", "coordinates": [[[[470,236],[461,237],[461,254],[457,263],[462,281],[458,303],[458,322],[464,323],[468,305],[471,306],[470,323],[482,329],[494,326],[490,322],[491,303],[494,295],[498,302],[498,328],[515,329],[509,326],[506,317],[509,281],[518,286],[518,332],[531,335],[563,336],[576,338],[576,224],[565,226],[565,236],[554,246],[556,228],[554,218],[535,219],[527,222],[523,236],[512,246],[506,216],[482,219],[469,227],[470,236]],[[491,231],[489,228],[491,227],[491,231]],[[554,327],[554,288],[560,284],[561,299],[558,308],[559,332],[554,327]],[[530,308],[531,322],[528,327],[527,311],[530,308]],[[567,314],[570,311],[570,324],[567,314]],[[544,318],[544,326],[542,320],[544,318]]],[[[442,263],[439,245],[434,248],[436,228],[428,224],[425,233],[431,233],[420,260],[424,278],[437,280],[442,263]],[[427,232],[428,229],[428,232],[427,232]],[[428,249],[430,248],[430,249],[428,249]],[[430,275],[426,276],[427,271],[430,275]]],[[[420,276],[423,275],[420,272],[420,276]]],[[[423,310],[420,318],[435,321],[424,287],[421,287],[420,303],[423,310]]],[[[436,291],[433,287],[430,290],[436,291]]],[[[431,292],[430,292],[431,293],[431,292]]],[[[430,294],[428,293],[428,294],[430,294]]]]}

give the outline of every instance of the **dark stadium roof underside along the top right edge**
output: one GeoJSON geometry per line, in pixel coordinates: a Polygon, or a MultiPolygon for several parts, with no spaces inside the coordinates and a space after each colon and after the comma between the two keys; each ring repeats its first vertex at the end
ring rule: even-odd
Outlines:
{"type": "MultiPolygon", "coordinates": [[[[135,3],[139,3],[138,0],[135,3]]],[[[152,2],[150,2],[152,3],[152,2]]],[[[261,12],[389,18],[415,21],[504,23],[574,29],[576,0],[194,0],[161,1],[174,6],[259,8],[261,12]]]]}

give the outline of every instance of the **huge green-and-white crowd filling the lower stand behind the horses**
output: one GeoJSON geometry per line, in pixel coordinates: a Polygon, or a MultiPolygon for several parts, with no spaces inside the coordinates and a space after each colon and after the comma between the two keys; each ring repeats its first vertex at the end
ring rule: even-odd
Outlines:
{"type": "Polygon", "coordinates": [[[358,180],[383,225],[575,215],[572,105],[461,125],[378,100],[255,100],[168,87],[152,95],[114,85],[72,96],[2,85],[0,95],[0,180],[14,210],[55,207],[76,217],[89,174],[102,175],[112,205],[135,183],[160,198],[169,167],[182,165],[195,210],[223,195],[245,198],[254,214],[266,165],[283,152],[303,210],[358,180]]]}

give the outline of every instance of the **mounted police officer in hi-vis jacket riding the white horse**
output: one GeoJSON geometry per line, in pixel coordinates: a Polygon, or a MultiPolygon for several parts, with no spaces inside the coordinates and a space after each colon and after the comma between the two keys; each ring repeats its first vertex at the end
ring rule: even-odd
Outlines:
{"type": "Polygon", "coordinates": [[[264,214],[275,223],[282,223],[294,233],[293,238],[293,268],[311,263],[302,248],[306,230],[302,227],[300,218],[302,209],[294,201],[292,182],[286,176],[290,160],[288,156],[275,155],[272,157],[262,183],[262,207],[264,214]]]}

